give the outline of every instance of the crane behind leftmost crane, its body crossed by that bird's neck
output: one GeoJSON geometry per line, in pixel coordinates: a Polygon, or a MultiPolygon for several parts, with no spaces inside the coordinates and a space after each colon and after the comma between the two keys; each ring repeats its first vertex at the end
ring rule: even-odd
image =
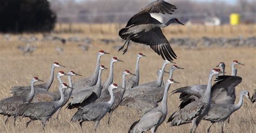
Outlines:
{"type": "MultiPolygon", "coordinates": [[[[46,91],[49,90],[49,88],[51,87],[51,84],[53,82],[53,77],[54,77],[54,69],[56,67],[64,67],[63,65],[60,65],[58,62],[55,62],[51,65],[51,75],[50,75],[50,78],[48,80],[48,82],[46,83],[43,83],[43,84],[38,84],[38,85],[35,85],[35,90],[37,92],[38,88],[39,89],[44,89],[46,91]]],[[[31,89],[31,86],[14,86],[14,87],[11,87],[11,92],[10,93],[13,93],[13,95],[26,95],[30,92],[30,89],[31,89]]]]}

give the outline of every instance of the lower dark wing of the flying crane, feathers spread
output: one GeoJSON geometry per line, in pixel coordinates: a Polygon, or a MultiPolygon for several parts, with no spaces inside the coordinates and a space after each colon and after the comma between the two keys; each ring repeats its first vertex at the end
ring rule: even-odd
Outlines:
{"type": "Polygon", "coordinates": [[[172,47],[159,27],[153,28],[151,31],[136,36],[131,40],[149,45],[158,55],[161,55],[164,60],[173,61],[172,57],[177,58],[177,55],[172,50],[172,47]],[[156,38],[155,36],[158,37],[156,38]]]}

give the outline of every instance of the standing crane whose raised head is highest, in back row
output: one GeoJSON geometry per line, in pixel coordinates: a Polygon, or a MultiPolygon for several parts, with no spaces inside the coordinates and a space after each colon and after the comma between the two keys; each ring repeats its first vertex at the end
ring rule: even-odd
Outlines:
{"type": "Polygon", "coordinates": [[[87,88],[89,86],[96,85],[97,80],[98,80],[98,75],[99,75],[99,64],[100,64],[100,57],[102,57],[105,54],[109,54],[103,50],[100,50],[98,55],[97,55],[97,63],[96,63],[96,68],[95,71],[93,72],[92,76],[89,78],[84,78],[78,80],[78,82],[74,83],[73,88],[73,93],[75,93],[77,90],[82,89],[82,88],[87,88]]]}

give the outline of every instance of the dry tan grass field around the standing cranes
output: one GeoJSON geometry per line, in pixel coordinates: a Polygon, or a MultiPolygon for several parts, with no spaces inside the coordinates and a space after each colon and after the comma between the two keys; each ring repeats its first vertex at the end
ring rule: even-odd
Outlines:
{"type": "MultiPolygon", "coordinates": [[[[255,33],[255,32],[254,32],[255,33]]],[[[111,35],[91,35],[93,38],[112,38],[111,35]]],[[[2,36],[2,35],[1,35],[2,36]]],[[[38,38],[41,38],[41,34],[37,34],[38,38]]],[[[69,36],[68,34],[60,34],[59,36],[69,36]]],[[[83,36],[83,34],[80,34],[83,36]]],[[[112,35],[113,36],[113,35],[112,35]]],[[[117,36],[114,36],[117,38],[117,36]]],[[[23,55],[16,47],[23,45],[24,42],[17,41],[17,35],[14,35],[12,41],[0,40],[0,99],[10,97],[9,93],[11,86],[17,85],[29,85],[30,79],[34,76],[47,80],[50,75],[50,66],[53,62],[59,62],[66,66],[66,68],[57,68],[56,71],[63,70],[68,72],[73,70],[84,77],[88,77],[95,69],[96,55],[99,50],[105,50],[111,55],[105,55],[102,57],[101,63],[109,68],[110,58],[117,56],[124,62],[118,62],[114,64],[114,82],[121,82],[121,73],[124,70],[130,70],[134,72],[137,53],[141,52],[147,57],[142,58],[140,61],[140,84],[150,82],[157,78],[157,69],[161,67],[163,60],[160,56],[157,56],[150,48],[142,47],[142,45],[134,45],[129,48],[125,55],[118,53],[116,49],[112,48],[112,45],[103,45],[97,42],[93,42],[93,46],[89,51],[83,52],[77,47],[77,43],[68,42],[64,46],[64,52],[60,55],[56,54],[55,47],[61,46],[60,42],[38,42],[37,50],[30,55],[23,55]]],[[[121,45],[120,43],[118,45],[121,45]]],[[[174,71],[173,78],[181,84],[171,85],[170,92],[176,88],[193,85],[193,84],[206,84],[208,72],[218,65],[219,62],[226,63],[226,72],[231,74],[231,62],[238,60],[244,63],[245,66],[237,66],[238,76],[242,77],[242,83],[237,86],[235,92],[237,95],[241,90],[248,90],[253,92],[256,88],[256,48],[201,48],[197,50],[183,49],[174,47],[178,59],[175,60],[177,65],[185,68],[185,70],[174,71]]],[[[167,65],[166,70],[169,70],[171,64],[167,65]]],[[[109,70],[103,71],[103,81],[106,80],[109,74],[109,70]]],[[[74,77],[73,81],[80,79],[81,77],[74,77]]],[[[167,75],[164,77],[164,82],[167,79],[167,75]]],[[[67,82],[66,77],[64,77],[67,82]]],[[[50,91],[57,90],[57,80],[53,81],[53,85],[50,91]]],[[[239,96],[236,102],[238,102],[239,96]]],[[[177,110],[179,105],[178,94],[169,95],[168,97],[168,116],[177,110]]],[[[75,114],[76,109],[67,110],[62,109],[59,116],[59,121],[50,119],[46,123],[45,132],[94,132],[94,122],[84,122],[83,130],[80,129],[78,123],[71,123],[71,117],[75,114]]],[[[244,104],[241,109],[235,112],[230,117],[230,123],[225,123],[225,132],[255,132],[256,131],[256,105],[245,98],[244,104]]],[[[56,117],[56,115],[53,115],[56,117]]],[[[130,125],[139,119],[138,112],[133,108],[127,108],[124,106],[118,107],[113,112],[110,125],[106,124],[106,117],[100,121],[97,132],[127,132],[130,125]]],[[[0,116],[0,132],[44,132],[41,128],[41,122],[34,121],[29,127],[25,128],[25,123],[29,119],[18,119],[16,127],[13,125],[13,119],[10,119],[6,125],[4,125],[5,117],[0,116]]],[[[206,132],[206,129],[210,125],[210,122],[201,121],[197,132],[206,132]]],[[[157,132],[188,132],[191,128],[191,124],[181,125],[179,127],[170,127],[166,123],[163,123],[158,128],[157,132]]],[[[211,132],[220,132],[220,125],[214,124],[211,128],[211,132]]]]}

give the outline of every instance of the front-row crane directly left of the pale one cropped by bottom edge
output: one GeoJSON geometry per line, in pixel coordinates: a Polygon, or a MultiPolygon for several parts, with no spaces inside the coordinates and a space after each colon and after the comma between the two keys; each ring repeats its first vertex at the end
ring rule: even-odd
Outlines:
{"type": "Polygon", "coordinates": [[[113,83],[109,86],[110,100],[107,102],[93,102],[89,105],[79,109],[72,117],[72,122],[78,121],[82,128],[84,121],[95,121],[95,131],[98,127],[99,121],[106,115],[111,109],[114,103],[113,90],[117,88],[117,84],[113,83]]]}

